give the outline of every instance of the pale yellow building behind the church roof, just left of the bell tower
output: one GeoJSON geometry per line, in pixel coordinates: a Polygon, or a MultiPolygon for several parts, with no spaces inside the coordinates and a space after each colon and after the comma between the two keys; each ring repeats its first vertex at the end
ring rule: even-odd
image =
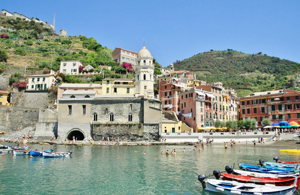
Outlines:
{"type": "Polygon", "coordinates": [[[134,79],[102,79],[102,94],[134,95],[134,79]]]}

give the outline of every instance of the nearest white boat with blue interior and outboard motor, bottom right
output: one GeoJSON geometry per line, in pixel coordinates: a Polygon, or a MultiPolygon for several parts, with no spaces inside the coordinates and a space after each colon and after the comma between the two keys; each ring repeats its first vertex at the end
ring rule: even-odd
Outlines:
{"type": "Polygon", "coordinates": [[[199,175],[204,190],[219,194],[241,194],[241,195],[293,195],[295,186],[275,186],[273,184],[257,185],[238,183],[236,181],[222,181],[209,179],[205,175],[199,175]],[[206,186],[207,185],[207,186],[206,186]]]}

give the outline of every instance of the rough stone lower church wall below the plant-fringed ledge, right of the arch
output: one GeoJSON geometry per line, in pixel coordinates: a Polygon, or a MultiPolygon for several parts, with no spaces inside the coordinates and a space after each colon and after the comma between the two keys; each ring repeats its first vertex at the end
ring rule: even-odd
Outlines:
{"type": "Polygon", "coordinates": [[[92,124],[91,137],[94,141],[101,141],[102,137],[107,140],[107,137],[114,137],[116,140],[118,137],[121,141],[125,141],[127,137],[128,141],[156,141],[158,140],[158,125],[146,125],[143,124],[92,124]],[[146,129],[146,132],[145,132],[146,129]]]}

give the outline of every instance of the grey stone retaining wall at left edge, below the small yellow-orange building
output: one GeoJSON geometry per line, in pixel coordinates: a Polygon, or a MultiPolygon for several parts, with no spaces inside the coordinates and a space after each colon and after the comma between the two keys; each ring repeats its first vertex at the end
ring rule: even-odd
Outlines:
{"type": "Polygon", "coordinates": [[[0,107],[1,131],[17,131],[18,127],[35,126],[38,121],[39,110],[22,107],[0,107]]]}

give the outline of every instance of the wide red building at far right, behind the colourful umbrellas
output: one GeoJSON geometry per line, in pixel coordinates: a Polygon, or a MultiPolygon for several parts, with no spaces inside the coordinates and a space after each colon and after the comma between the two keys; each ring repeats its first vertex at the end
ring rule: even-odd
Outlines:
{"type": "Polygon", "coordinates": [[[250,94],[240,98],[240,119],[255,119],[258,124],[268,118],[272,123],[300,121],[300,92],[275,90],[250,94]]]}

